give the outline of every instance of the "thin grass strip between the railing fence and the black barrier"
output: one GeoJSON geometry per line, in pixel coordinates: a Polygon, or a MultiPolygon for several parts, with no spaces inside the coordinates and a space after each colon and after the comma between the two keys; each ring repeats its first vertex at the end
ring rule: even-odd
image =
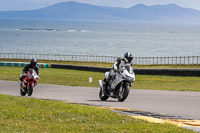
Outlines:
{"type": "MultiPolygon", "coordinates": [[[[0,59],[7,62],[29,62],[29,59],[0,59]]],[[[40,63],[48,64],[68,64],[81,66],[96,66],[96,67],[112,67],[113,63],[104,62],[80,62],[80,61],[55,61],[55,60],[38,60],[40,63]]],[[[161,68],[161,69],[200,69],[200,65],[134,65],[134,68],[161,68]]]]}

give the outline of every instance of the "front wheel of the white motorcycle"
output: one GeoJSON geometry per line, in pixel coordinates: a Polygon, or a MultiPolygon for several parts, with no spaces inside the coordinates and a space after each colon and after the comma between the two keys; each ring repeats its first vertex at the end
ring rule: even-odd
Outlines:
{"type": "Polygon", "coordinates": [[[126,98],[128,97],[130,91],[130,86],[128,85],[124,85],[124,87],[122,88],[122,91],[120,91],[118,93],[118,101],[119,102],[123,102],[124,100],[126,100],[126,98]]]}

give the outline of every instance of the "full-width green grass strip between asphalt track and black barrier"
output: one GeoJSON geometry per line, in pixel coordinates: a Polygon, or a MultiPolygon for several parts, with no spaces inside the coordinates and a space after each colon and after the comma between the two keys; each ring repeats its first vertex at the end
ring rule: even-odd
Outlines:
{"type": "MultiPolygon", "coordinates": [[[[0,80],[18,81],[22,67],[0,67],[0,80]]],[[[67,69],[40,69],[39,83],[67,86],[99,87],[98,80],[104,73],[67,69]],[[89,83],[89,77],[93,82],[89,83]]],[[[200,77],[136,75],[132,89],[199,91],[200,77]]]]}

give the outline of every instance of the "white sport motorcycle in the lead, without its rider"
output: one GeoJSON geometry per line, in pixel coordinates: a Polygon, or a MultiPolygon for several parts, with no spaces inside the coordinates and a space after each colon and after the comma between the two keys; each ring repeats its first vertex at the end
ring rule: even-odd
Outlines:
{"type": "MultiPolygon", "coordinates": [[[[105,73],[105,78],[108,79],[110,72],[105,73]]],[[[135,73],[131,64],[122,67],[122,71],[115,72],[114,78],[103,88],[102,80],[99,80],[100,92],[99,98],[106,101],[109,97],[117,98],[119,102],[123,102],[130,91],[132,83],[135,81],[135,73]]]]}

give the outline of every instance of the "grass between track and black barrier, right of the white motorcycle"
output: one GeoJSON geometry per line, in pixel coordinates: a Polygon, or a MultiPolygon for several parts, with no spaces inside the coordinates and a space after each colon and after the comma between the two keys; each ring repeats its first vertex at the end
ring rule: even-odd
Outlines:
{"type": "Polygon", "coordinates": [[[199,91],[200,77],[136,75],[135,89],[199,91]]]}

